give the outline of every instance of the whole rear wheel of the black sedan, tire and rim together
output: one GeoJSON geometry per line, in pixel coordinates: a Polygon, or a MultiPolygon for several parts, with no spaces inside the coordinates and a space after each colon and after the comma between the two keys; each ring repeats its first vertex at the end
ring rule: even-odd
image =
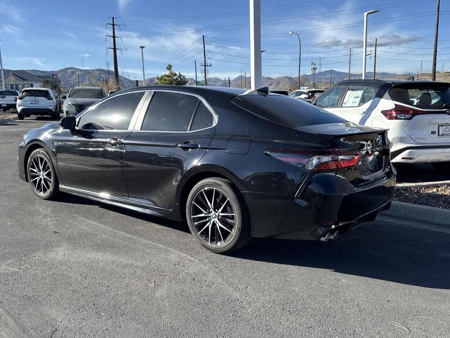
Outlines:
{"type": "Polygon", "coordinates": [[[186,202],[186,220],[198,243],[212,252],[231,252],[243,247],[251,240],[247,207],[231,182],[222,178],[207,178],[192,188],[186,202]],[[206,200],[203,196],[206,196],[206,200]],[[200,203],[201,200],[202,203],[200,203]],[[208,207],[205,208],[211,203],[213,203],[213,212],[211,209],[206,209],[208,207]],[[192,212],[195,212],[195,215],[192,215],[192,212]],[[198,213],[201,214],[198,215],[198,213]],[[234,216],[230,216],[231,214],[234,216]],[[199,217],[192,217],[197,215],[199,217]],[[199,230],[203,226],[205,226],[204,230],[199,230]]]}

